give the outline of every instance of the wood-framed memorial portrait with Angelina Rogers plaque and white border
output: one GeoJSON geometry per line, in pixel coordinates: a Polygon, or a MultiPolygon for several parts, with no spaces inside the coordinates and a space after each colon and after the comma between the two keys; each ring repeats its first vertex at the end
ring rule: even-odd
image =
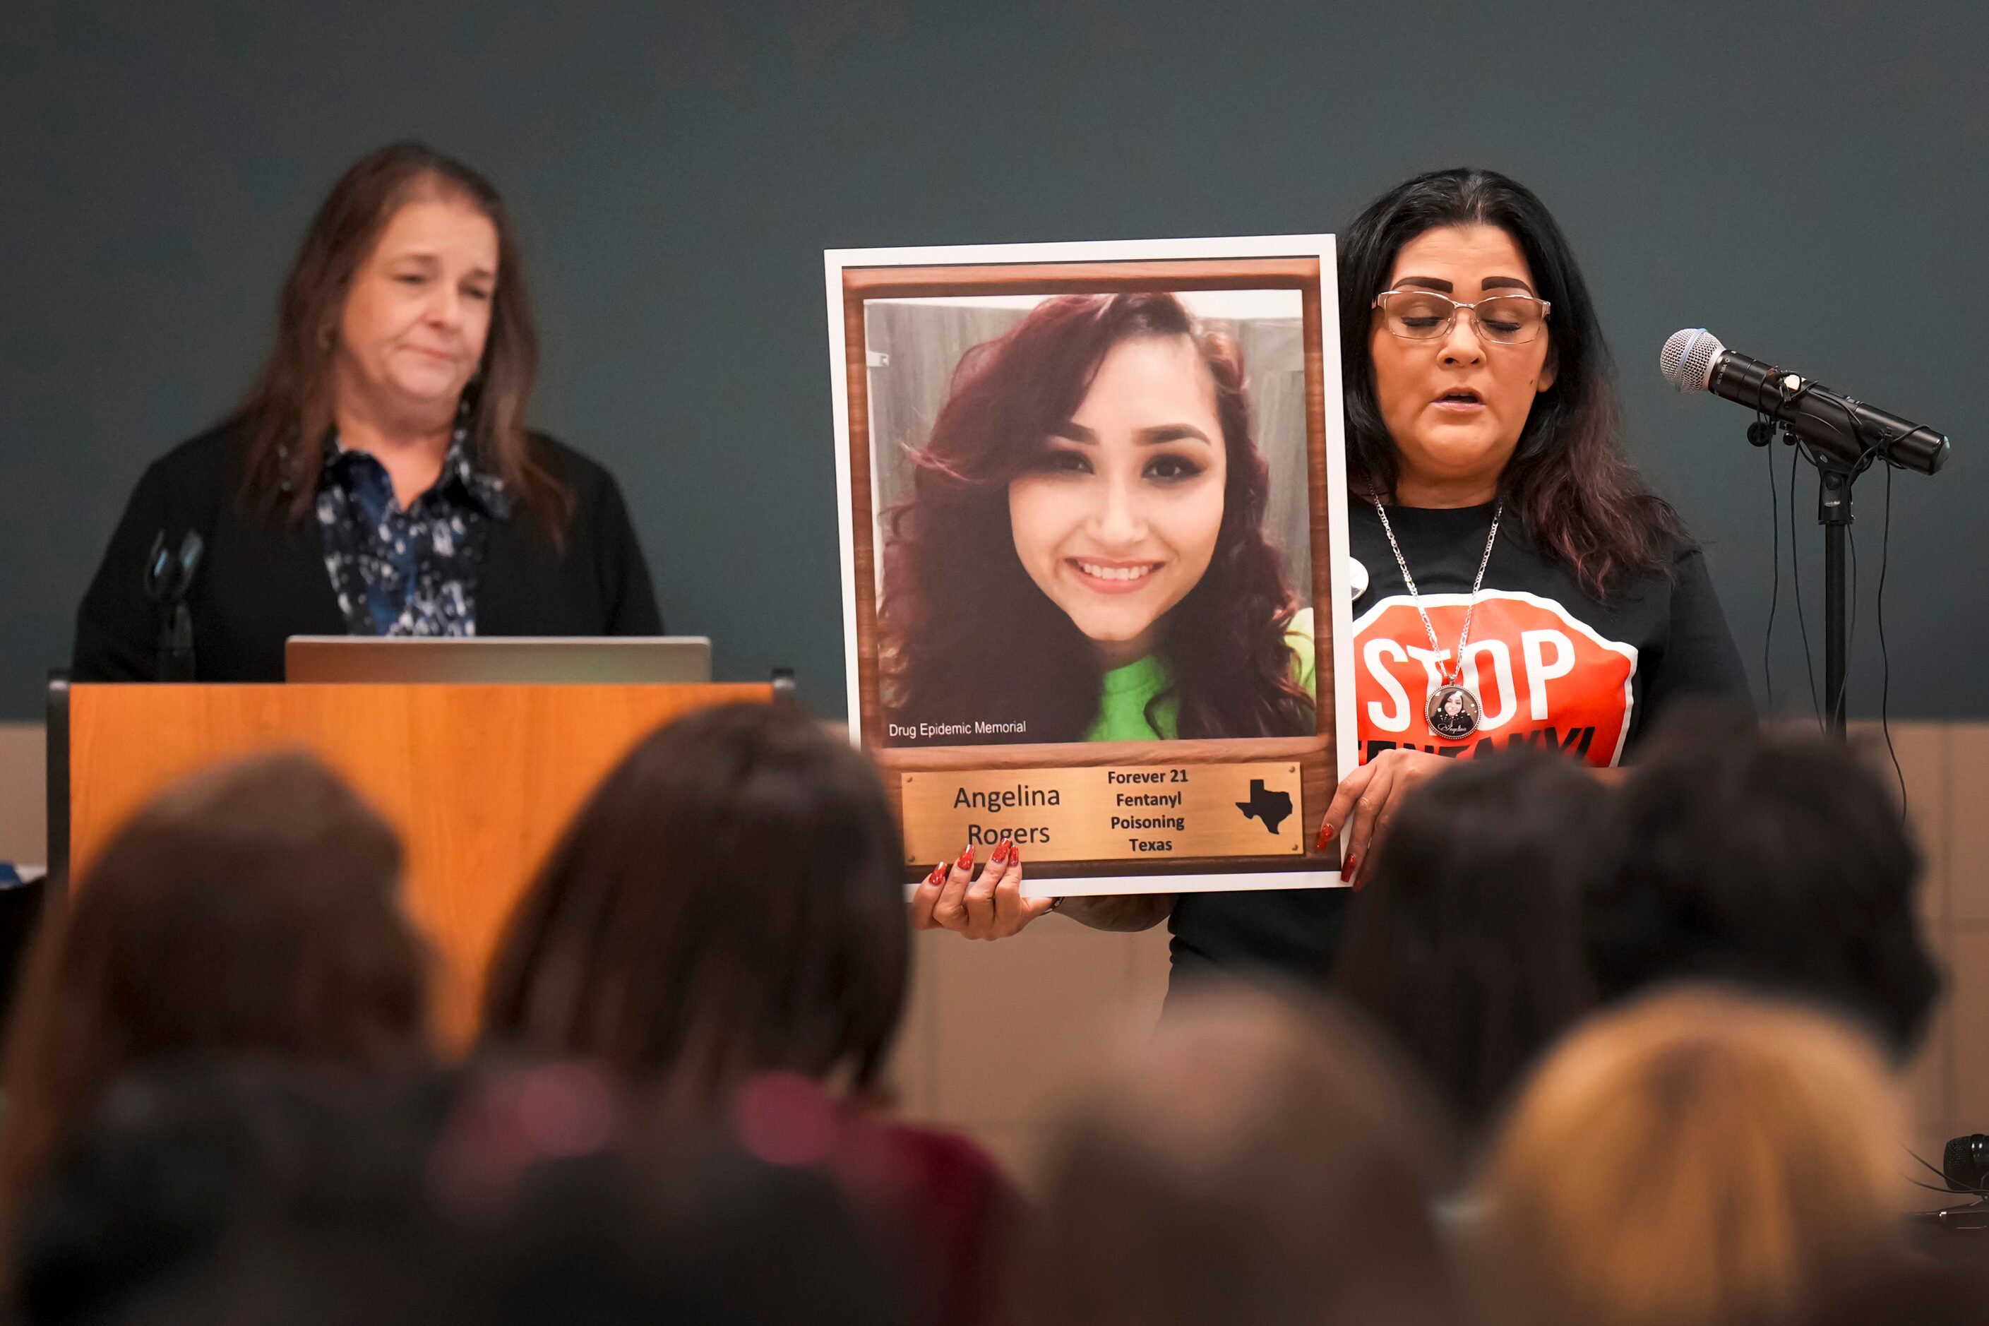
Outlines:
{"type": "Polygon", "coordinates": [[[1333,237],[825,254],[849,726],[907,883],[1339,885],[1333,237]]]}

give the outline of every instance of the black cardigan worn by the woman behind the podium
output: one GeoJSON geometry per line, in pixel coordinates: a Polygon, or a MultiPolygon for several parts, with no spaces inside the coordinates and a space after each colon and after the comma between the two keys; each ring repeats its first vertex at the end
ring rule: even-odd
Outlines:
{"type": "MultiPolygon", "coordinates": [[[[555,553],[533,517],[491,519],[477,577],[479,636],[658,636],[662,616],[642,547],[615,477],[571,447],[533,435],[539,457],[573,493],[567,545],[555,553]]],[[[290,636],[342,636],[324,543],[314,519],[245,511],[245,431],[201,433],[145,469],[76,612],[78,682],[151,682],[159,618],[145,596],[145,557],[193,529],[207,545],[187,606],[201,682],[280,682],[290,636]]]]}

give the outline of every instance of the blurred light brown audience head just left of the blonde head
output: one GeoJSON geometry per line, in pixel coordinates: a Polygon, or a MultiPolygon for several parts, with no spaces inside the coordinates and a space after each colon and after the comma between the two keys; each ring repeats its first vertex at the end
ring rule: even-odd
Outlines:
{"type": "Polygon", "coordinates": [[[1036,1320],[1456,1322],[1434,1145],[1355,1020],[1259,990],[1175,1000],[1056,1127],[1036,1320]]]}

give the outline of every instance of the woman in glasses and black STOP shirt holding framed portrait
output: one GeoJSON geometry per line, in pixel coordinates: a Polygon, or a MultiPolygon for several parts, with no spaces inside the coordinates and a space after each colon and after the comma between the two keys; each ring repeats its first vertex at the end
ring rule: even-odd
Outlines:
{"type": "MultiPolygon", "coordinates": [[[[1744,702],[1748,688],[1699,545],[1623,455],[1587,282],[1534,193],[1476,169],[1404,181],[1345,233],[1339,288],[1349,541],[1370,584],[1355,602],[1362,763],[1319,839],[1343,843],[1358,887],[1400,797],[1448,757],[1551,740],[1609,765],[1679,698],[1744,702]],[[1438,596],[1466,608],[1462,634],[1446,618],[1438,638],[1438,596]],[[1418,656],[1428,684],[1416,664],[1414,690],[1380,666],[1418,656]],[[1609,722],[1615,742],[1577,744],[1609,722]]],[[[998,905],[996,891],[1020,893],[1018,871],[994,891],[959,875],[913,897],[917,924],[996,938],[1036,914],[998,905]]],[[[1064,911],[1098,928],[1168,918],[1175,976],[1317,976],[1347,903],[1295,889],[1072,897],[1064,911]]]]}

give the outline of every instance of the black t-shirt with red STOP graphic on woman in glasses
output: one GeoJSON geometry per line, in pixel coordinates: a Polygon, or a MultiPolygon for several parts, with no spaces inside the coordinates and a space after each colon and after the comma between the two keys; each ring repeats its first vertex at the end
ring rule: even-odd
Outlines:
{"type": "MultiPolygon", "coordinates": [[[[1679,696],[1748,698],[1697,547],[1679,551],[1669,577],[1643,577],[1601,602],[1508,513],[1470,606],[1494,509],[1390,507],[1436,630],[1432,650],[1374,505],[1347,505],[1349,551],[1366,573],[1353,650],[1360,763],[1396,746],[1472,757],[1526,744],[1613,765],[1679,696]],[[1470,738],[1450,742],[1430,730],[1424,700],[1456,654],[1468,606],[1464,684],[1480,698],[1482,720],[1470,738]]],[[[1347,889],[1181,895],[1170,920],[1174,970],[1181,978],[1209,966],[1321,976],[1351,901],[1347,889]]]]}

